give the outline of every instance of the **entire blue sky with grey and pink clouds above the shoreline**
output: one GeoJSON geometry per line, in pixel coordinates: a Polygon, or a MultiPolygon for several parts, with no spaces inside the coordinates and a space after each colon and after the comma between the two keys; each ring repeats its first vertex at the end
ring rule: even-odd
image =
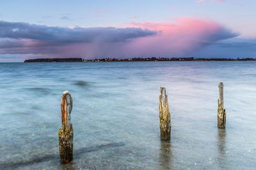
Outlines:
{"type": "Polygon", "coordinates": [[[255,0],[1,0],[0,62],[256,57],[255,0]]]}

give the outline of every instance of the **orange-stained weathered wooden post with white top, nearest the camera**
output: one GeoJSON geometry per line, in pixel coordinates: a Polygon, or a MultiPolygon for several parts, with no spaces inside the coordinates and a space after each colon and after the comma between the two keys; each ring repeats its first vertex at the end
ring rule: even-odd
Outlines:
{"type": "Polygon", "coordinates": [[[73,159],[73,127],[70,122],[73,100],[68,91],[61,96],[61,124],[59,130],[60,160],[68,163],[73,159]]]}

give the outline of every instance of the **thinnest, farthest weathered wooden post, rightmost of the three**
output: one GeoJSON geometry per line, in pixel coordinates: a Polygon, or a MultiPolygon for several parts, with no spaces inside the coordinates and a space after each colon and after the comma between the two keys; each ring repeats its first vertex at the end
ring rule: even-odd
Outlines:
{"type": "Polygon", "coordinates": [[[225,128],[226,126],[226,110],[224,109],[223,103],[223,83],[219,84],[219,94],[220,98],[218,99],[218,127],[225,128]]]}

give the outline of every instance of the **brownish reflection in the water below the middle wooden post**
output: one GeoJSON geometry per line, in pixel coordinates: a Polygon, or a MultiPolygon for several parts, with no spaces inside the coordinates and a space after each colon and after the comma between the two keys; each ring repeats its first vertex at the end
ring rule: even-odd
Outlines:
{"type": "Polygon", "coordinates": [[[161,169],[171,169],[172,167],[172,147],[170,141],[161,141],[159,164],[161,169]]]}

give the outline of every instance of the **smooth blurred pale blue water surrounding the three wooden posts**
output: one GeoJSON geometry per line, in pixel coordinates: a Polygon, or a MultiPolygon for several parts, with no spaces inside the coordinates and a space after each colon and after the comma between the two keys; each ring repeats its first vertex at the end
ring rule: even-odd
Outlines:
{"type": "Polygon", "coordinates": [[[0,169],[256,168],[256,62],[1,63],[0,82],[0,169]],[[160,140],[159,87],[170,142],[160,140]],[[74,101],[69,164],[58,146],[64,90],[74,101]]]}

